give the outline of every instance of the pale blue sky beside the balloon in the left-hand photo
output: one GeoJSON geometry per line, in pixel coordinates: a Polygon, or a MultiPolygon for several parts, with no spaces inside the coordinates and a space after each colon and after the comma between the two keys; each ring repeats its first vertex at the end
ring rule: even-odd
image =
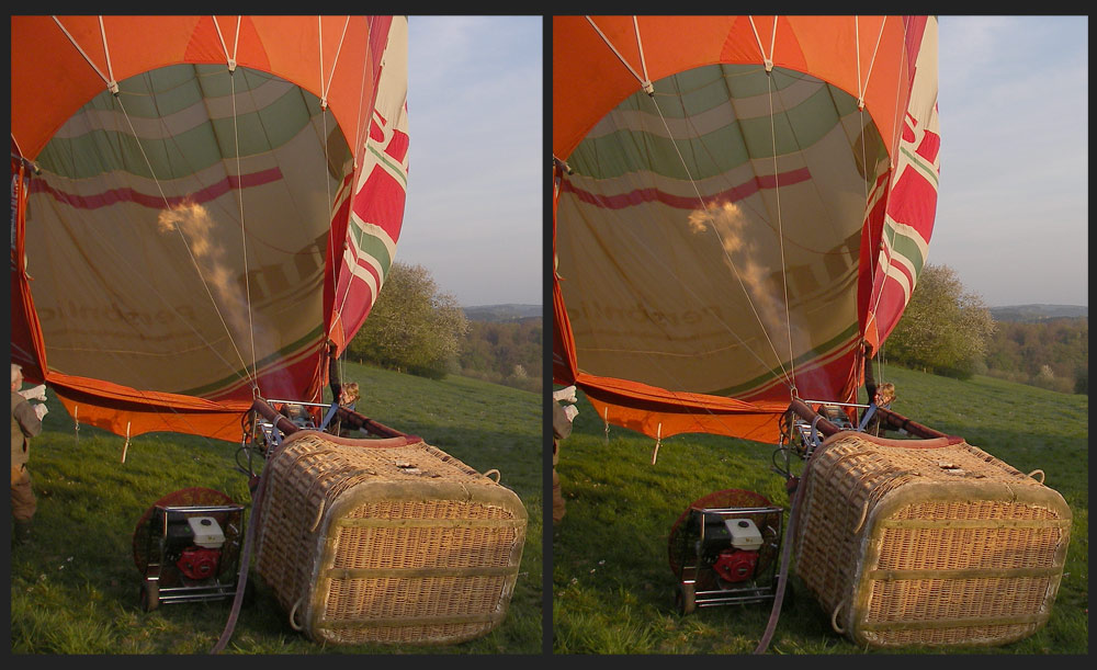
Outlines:
{"type": "Polygon", "coordinates": [[[543,303],[541,16],[408,19],[408,197],[396,260],[465,307],[543,303]]]}

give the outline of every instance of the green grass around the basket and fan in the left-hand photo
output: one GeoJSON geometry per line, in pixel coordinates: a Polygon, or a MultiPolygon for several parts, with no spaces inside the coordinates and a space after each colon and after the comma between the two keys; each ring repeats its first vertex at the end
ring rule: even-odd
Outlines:
{"type": "MultiPolygon", "coordinates": [[[[542,651],[542,408],[529,391],[451,376],[441,382],[347,364],[362,413],[460,458],[498,469],[529,513],[525,548],[507,620],[489,635],[451,646],[321,646],[294,631],[252,570],[253,598],[223,654],[540,654],[542,651]]],[[[32,442],[38,498],[33,543],[11,555],[13,654],[205,654],[225,629],[230,600],[140,607],[133,535],[145,511],[188,487],[250,506],[237,443],[177,434],[124,438],[73,421],[50,395],[45,430],[32,442]]],[[[250,507],[249,507],[250,509],[250,507]]]]}

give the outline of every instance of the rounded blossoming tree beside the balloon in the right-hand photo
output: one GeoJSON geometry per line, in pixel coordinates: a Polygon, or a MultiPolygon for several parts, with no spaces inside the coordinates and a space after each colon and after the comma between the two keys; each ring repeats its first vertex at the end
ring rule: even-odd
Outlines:
{"type": "Polygon", "coordinates": [[[966,379],[983,362],[994,328],[982,297],[964,292],[951,268],[927,264],[903,318],[887,339],[887,356],[966,379]]]}

